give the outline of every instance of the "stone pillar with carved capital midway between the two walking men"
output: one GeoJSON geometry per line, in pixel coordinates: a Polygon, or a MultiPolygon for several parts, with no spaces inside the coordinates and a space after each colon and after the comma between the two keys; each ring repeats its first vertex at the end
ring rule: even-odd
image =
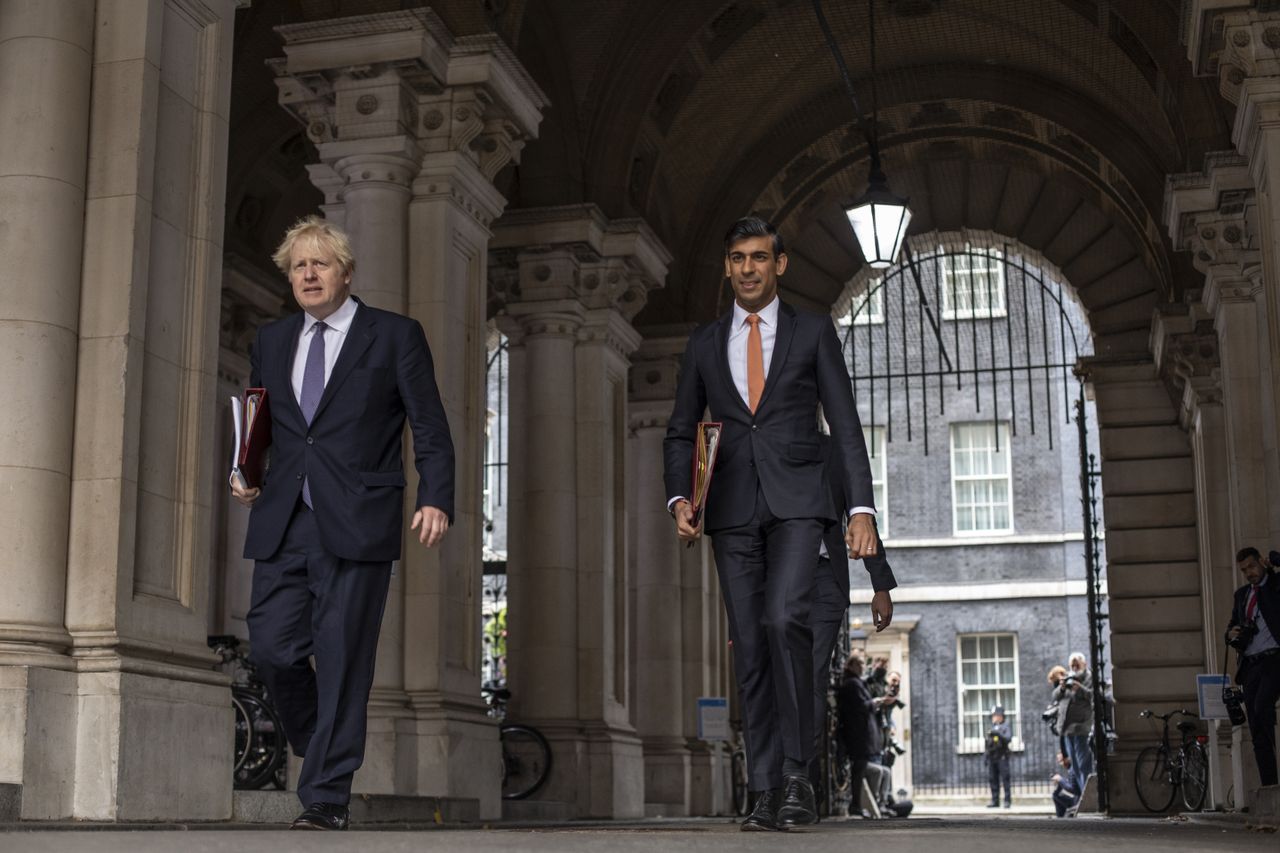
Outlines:
{"type": "MultiPolygon", "coordinates": [[[[630,319],[669,255],[637,220],[590,205],[507,214],[490,277],[511,339],[508,629],[512,715],[552,742],[522,815],[644,813],[628,721],[625,466],[630,319]],[[515,270],[515,275],[512,275],[515,270]]],[[[508,813],[517,813],[508,808],[508,813]]]]}

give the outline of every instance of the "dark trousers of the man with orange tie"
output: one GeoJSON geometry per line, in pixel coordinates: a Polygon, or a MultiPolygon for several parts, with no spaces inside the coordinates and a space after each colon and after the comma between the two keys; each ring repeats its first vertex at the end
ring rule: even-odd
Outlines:
{"type": "Polygon", "coordinates": [[[778,519],[760,491],[751,520],[712,533],[742,703],[748,788],[782,784],[813,757],[813,601],[820,519],[778,519]]]}

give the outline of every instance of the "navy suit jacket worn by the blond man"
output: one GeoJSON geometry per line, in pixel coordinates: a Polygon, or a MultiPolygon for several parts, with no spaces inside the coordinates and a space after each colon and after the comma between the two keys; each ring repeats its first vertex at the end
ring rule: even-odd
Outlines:
{"type": "Polygon", "coordinates": [[[417,320],[358,302],[310,426],[293,396],[301,313],[259,329],[252,387],[271,410],[270,466],[250,514],[244,557],[269,560],[310,478],[320,544],[337,557],[390,562],[404,525],[404,423],[413,434],[416,506],[453,519],[453,441],[417,320]]]}

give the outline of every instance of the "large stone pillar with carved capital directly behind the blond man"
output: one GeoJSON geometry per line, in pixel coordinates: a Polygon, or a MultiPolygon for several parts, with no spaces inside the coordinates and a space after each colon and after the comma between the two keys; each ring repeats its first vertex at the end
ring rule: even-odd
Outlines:
{"type": "Polygon", "coordinates": [[[506,205],[493,178],[547,101],[497,36],[454,38],[430,9],[278,31],[280,102],[317,145],[311,178],[352,236],[353,289],[422,323],[457,455],[445,543],[428,552],[406,525],[356,786],[476,798],[497,817],[500,751],[479,694],[485,265],[506,205]]]}

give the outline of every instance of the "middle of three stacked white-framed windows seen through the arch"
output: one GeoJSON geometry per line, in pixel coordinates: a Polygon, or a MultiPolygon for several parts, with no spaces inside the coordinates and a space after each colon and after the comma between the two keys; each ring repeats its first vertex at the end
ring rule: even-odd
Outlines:
{"type": "Polygon", "coordinates": [[[956,535],[1014,532],[1009,424],[951,424],[951,519],[956,535]]]}

